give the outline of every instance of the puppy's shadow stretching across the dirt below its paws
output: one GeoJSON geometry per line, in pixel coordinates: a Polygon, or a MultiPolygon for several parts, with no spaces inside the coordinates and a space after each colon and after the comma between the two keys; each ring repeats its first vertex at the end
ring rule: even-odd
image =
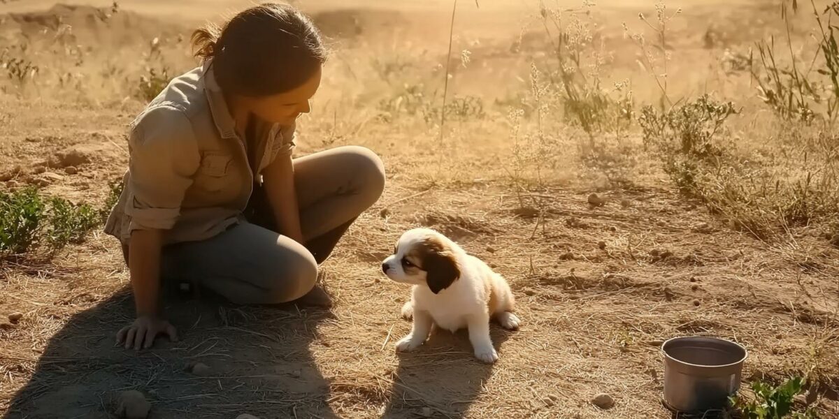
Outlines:
{"type": "Polygon", "coordinates": [[[519,332],[505,330],[492,322],[490,335],[499,359],[496,364],[487,365],[475,358],[466,329],[452,334],[435,328],[419,349],[399,353],[399,367],[393,375],[393,388],[382,417],[465,416],[481,396],[492,369],[503,364],[504,342],[516,333],[519,332]]]}

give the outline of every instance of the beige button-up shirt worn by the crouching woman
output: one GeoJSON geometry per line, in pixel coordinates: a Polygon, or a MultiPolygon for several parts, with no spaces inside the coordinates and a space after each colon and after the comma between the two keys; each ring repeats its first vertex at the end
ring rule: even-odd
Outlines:
{"type": "Polygon", "coordinates": [[[237,224],[254,178],[294,149],[294,126],[254,128],[246,150],[211,60],[172,80],[129,126],[125,186],[105,232],[127,243],[133,230],[167,230],[164,242],[175,243],[237,224]]]}

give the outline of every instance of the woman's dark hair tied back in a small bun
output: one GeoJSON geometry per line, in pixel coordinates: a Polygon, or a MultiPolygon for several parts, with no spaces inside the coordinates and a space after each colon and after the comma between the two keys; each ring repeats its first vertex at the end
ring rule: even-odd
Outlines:
{"type": "Polygon", "coordinates": [[[221,90],[250,97],[290,91],[326,61],[315,24],[280,3],[248,8],[223,28],[208,24],[192,34],[192,47],[202,61],[213,59],[221,90]]]}

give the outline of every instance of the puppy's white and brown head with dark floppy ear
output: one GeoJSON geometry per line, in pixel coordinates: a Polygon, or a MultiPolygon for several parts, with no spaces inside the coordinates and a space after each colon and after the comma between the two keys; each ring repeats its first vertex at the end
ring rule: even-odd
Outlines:
{"type": "Polygon", "coordinates": [[[406,231],[382,263],[385,275],[396,282],[427,285],[435,294],[461,276],[456,253],[440,233],[429,229],[406,231]]]}

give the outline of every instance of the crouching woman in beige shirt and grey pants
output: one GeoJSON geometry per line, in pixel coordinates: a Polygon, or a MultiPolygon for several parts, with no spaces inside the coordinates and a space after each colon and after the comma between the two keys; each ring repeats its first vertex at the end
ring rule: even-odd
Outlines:
{"type": "Polygon", "coordinates": [[[131,272],[137,318],[117,334],[127,349],[177,339],[161,282],[233,303],[330,305],[315,287],[318,264],[384,188],[366,148],[291,158],[326,59],[309,18],[267,3],[192,41],[201,67],[132,123],[125,188],[106,225],[131,272]]]}

